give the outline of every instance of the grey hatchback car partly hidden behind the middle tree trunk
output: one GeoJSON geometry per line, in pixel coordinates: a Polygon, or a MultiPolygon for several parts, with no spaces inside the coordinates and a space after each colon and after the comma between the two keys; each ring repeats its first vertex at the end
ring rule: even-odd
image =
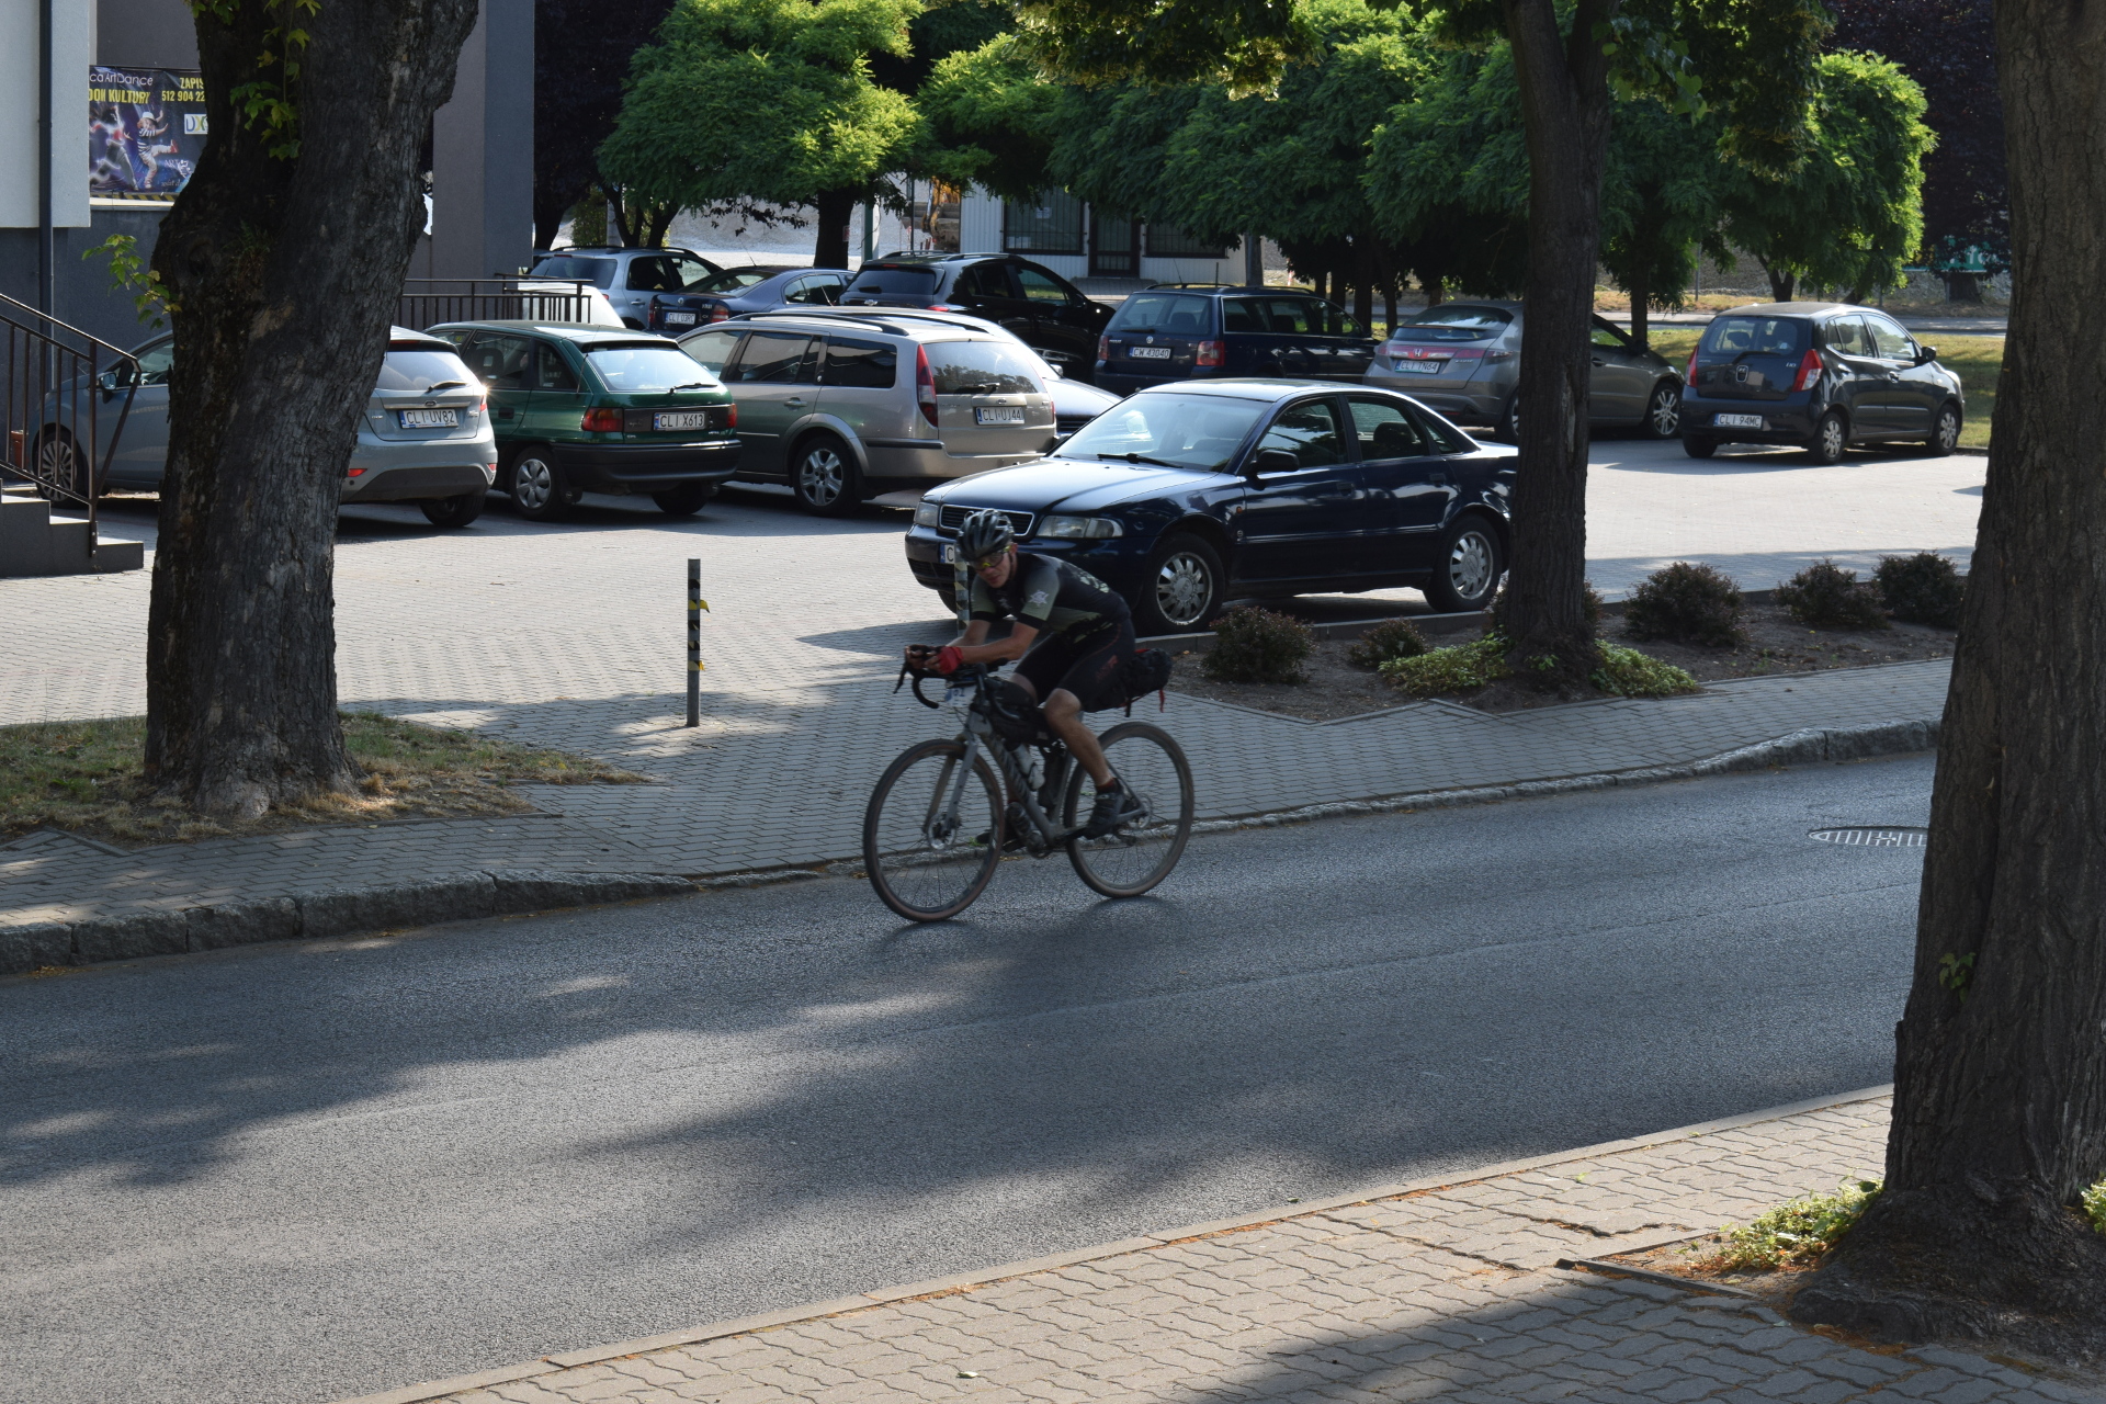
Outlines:
{"type": "MultiPolygon", "coordinates": [[[[1622,328],[1594,318],[1592,421],[1636,425],[1647,438],[1681,432],[1683,377],[1622,328]]],[[[1521,429],[1521,303],[1434,303],[1375,347],[1369,385],[1403,389],[1457,423],[1481,423],[1516,442],[1521,429]]]]}

